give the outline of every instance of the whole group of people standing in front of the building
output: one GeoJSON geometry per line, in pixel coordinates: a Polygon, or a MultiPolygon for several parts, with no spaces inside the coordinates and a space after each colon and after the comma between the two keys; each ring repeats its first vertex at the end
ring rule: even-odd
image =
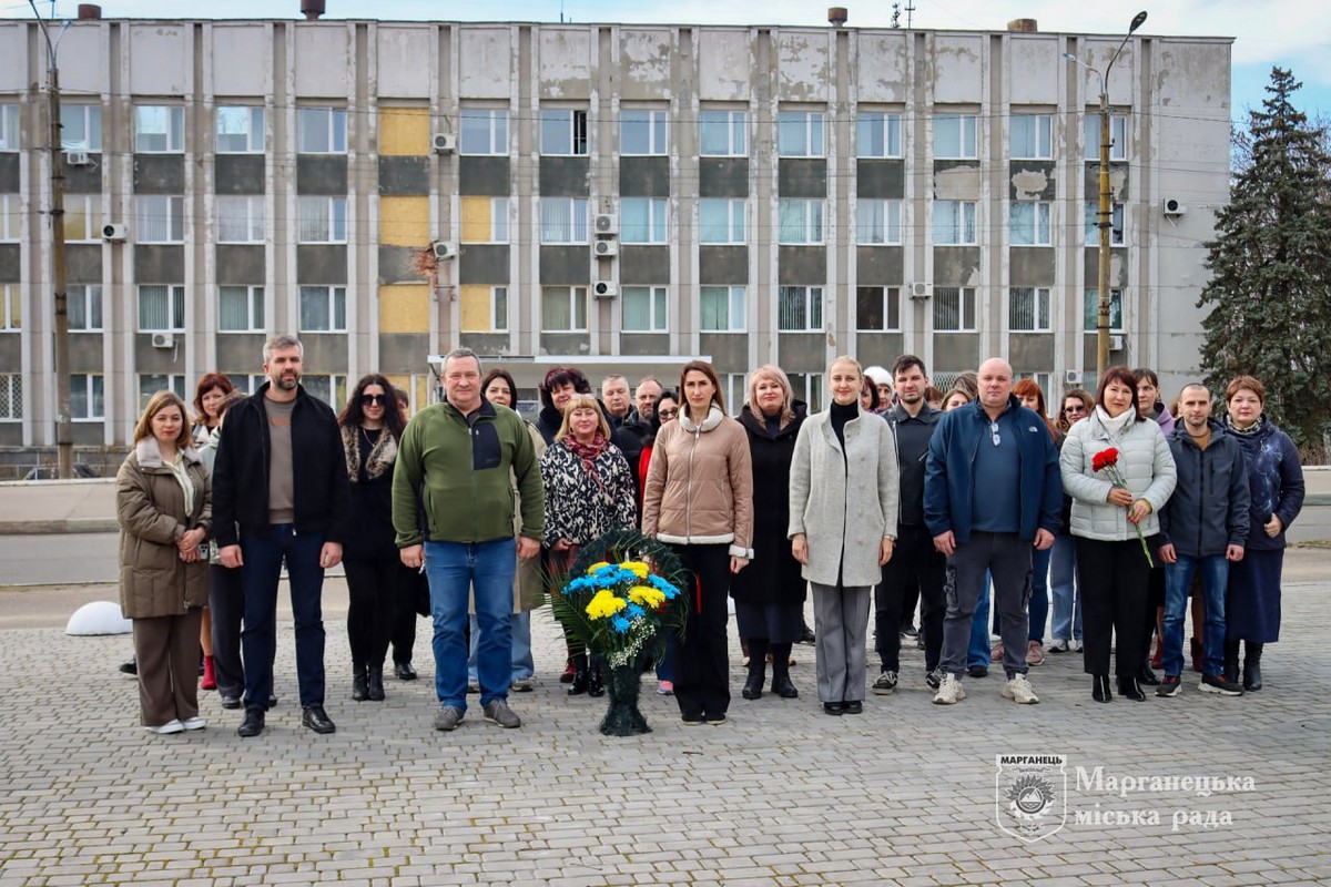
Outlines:
{"type": "MultiPolygon", "coordinates": [[[[445,358],[445,400],[410,419],[406,396],[377,374],[334,415],[299,386],[291,336],[270,339],[264,359],[268,382],[250,396],[224,376],[208,378],[216,398],[201,383],[202,451],[181,399],[154,395],[120,471],[121,596],[142,723],[157,733],[204,726],[205,602],[205,685],[216,680],[224,707],[244,705],[241,735],[264,730],[284,563],[306,727],[335,730],[323,709],[319,601],[323,570],[338,563],[354,699],[385,697],[390,640],[398,677],[415,677],[411,641],[398,641],[419,606],[434,620],[435,729],[462,723],[470,693],[486,721],[518,727],[508,694],[532,689],[530,614],[558,593],[546,577],[623,528],[671,545],[692,577],[684,633],[658,664],[659,692],[673,694],[689,726],[727,719],[728,597],[748,656],[741,696],[791,699],[791,649],[812,596],[817,697],[829,715],[858,714],[868,690],[897,688],[898,625],[916,600],[924,680],[940,705],[965,697],[962,676],[988,672],[990,652],[977,661],[976,638],[988,646],[990,592],[1001,693],[1018,703],[1038,702],[1029,669],[1044,660],[1050,596],[1047,649],[1079,648],[1105,702],[1115,644],[1119,696],[1143,699],[1142,684],[1178,693],[1194,576],[1201,689],[1259,689],[1262,645],[1278,637],[1283,533],[1302,505],[1302,469],[1248,376],[1229,386],[1223,422],[1210,415],[1210,392],[1187,386],[1175,423],[1157,403],[1154,374],[1126,367],[1106,371],[1094,396],[1066,392],[1050,420],[1044,392],[1016,382],[1002,359],[942,392],[913,355],[890,375],[847,355],[828,367],[827,410],[811,415],[787,375],[763,366],[736,419],[701,360],[681,367],[677,391],[644,379],[632,398],[623,376],[604,379],[598,399],[582,371],[555,367],[527,422],[512,411],[512,376],[484,372],[466,348],[445,358]],[[1163,680],[1151,672],[1153,634],[1163,680]]],[[[575,696],[604,688],[602,664],[571,640],[560,680],[575,696]]]]}

